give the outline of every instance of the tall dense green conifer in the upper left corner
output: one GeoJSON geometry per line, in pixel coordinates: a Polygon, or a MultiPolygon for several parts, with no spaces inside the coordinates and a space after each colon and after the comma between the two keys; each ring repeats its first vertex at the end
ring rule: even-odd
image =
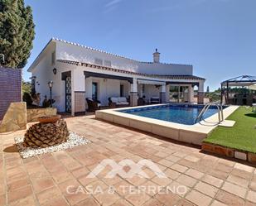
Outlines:
{"type": "Polygon", "coordinates": [[[0,0],[0,54],[4,66],[23,68],[35,37],[31,7],[24,0],[0,0]]]}

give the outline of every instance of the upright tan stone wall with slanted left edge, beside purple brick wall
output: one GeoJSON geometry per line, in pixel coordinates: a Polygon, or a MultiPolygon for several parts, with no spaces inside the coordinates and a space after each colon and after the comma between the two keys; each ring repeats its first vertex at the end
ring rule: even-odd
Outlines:
{"type": "Polygon", "coordinates": [[[2,119],[0,132],[15,132],[27,129],[26,109],[26,103],[11,103],[2,119]]]}

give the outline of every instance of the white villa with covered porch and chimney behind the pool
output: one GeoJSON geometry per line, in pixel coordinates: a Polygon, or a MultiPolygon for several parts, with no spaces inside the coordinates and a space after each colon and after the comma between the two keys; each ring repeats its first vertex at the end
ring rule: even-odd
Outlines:
{"type": "Polygon", "coordinates": [[[131,60],[123,56],[95,50],[87,46],[51,39],[28,71],[32,89],[41,93],[41,101],[50,92],[59,112],[85,112],[85,98],[98,99],[109,105],[111,97],[126,97],[130,106],[138,98],[150,103],[159,97],[161,103],[171,99],[171,87],[178,88],[178,102],[194,102],[194,86],[198,88],[198,103],[203,103],[205,79],[193,75],[192,65],[160,63],[160,53],[153,53],[152,62],[131,60]],[[182,97],[182,98],[181,98],[182,97]]]}

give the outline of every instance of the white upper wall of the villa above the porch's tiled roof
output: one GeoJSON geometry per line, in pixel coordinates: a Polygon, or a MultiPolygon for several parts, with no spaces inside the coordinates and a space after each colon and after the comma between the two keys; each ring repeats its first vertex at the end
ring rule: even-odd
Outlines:
{"type": "Polygon", "coordinates": [[[95,64],[95,59],[111,61],[111,67],[116,69],[129,70],[145,74],[170,74],[170,75],[192,75],[192,65],[175,65],[175,64],[161,64],[152,62],[140,62],[137,60],[130,60],[118,55],[111,55],[103,51],[89,49],[87,47],[76,46],[74,44],[65,43],[63,41],[56,41],[57,60],[73,60],[83,63],[95,64]]]}

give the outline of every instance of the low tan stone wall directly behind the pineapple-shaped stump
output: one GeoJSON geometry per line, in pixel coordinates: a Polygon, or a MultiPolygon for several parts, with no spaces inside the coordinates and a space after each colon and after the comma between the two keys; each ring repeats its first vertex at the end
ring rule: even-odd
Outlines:
{"type": "Polygon", "coordinates": [[[56,108],[28,108],[27,109],[27,122],[37,122],[38,117],[45,117],[56,115],[56,108]]]}

